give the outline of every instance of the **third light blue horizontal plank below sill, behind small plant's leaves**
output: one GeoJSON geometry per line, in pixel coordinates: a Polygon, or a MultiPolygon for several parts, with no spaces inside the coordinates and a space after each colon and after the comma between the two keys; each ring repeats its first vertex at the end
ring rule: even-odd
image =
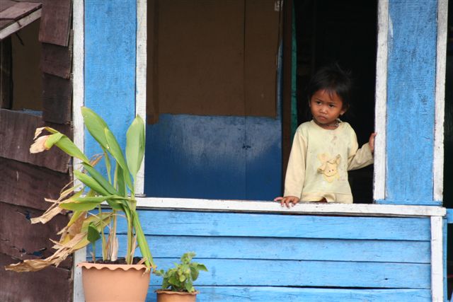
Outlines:
{"type": "MultiPolygon", "coordinates": [[[[428,264],[196,259],[209,269],[197,279],[200,286],[431,288],[431,269],[428,264]]],[[[154,258],[154,262],[166,269],[173,267],[178,258],[154,258]]],[[[160,279],[151,278],[151,286],[160,283],[160,279]]]]}

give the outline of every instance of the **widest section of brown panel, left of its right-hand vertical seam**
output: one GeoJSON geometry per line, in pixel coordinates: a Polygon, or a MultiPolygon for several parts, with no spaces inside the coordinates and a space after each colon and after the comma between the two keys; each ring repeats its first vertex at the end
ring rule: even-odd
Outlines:
{"type": "Polygon", "coordinates": [[[159,112],[244,115],[243,0],[159,1],[159,112]]]}

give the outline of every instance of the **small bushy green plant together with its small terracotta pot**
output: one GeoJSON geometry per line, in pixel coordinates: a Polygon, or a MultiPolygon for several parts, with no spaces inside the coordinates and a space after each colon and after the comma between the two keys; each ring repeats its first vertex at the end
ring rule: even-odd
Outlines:
{"type": "Polygon", "coordinates": [[[154,271],[157,276],[163,277],[162,288],[156,291],[157,302],[190,302],[195,301],[198,291],[193,287],[193,281],[198,278],[201,271],[207,272],[205,265],[192,262],[195,252],[186,252],[180,263],[175,267],[154,271]]]}

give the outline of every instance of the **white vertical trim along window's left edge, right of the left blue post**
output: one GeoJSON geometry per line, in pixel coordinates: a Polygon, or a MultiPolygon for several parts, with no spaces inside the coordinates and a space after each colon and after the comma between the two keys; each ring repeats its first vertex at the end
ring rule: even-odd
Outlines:
{"type": "MultiPolygon", "coordinates": [[[[135,114],[147,121],[147,1],[137,0],[137,64],[135,114]]],[[[144,158],[135,180],[135,194],[144,194],[144,158]]]]}

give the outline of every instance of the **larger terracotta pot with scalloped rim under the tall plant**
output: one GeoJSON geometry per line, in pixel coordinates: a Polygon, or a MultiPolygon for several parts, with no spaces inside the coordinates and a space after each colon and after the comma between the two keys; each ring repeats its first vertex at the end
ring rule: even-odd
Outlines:
{"type": "Polygon", "coordinates": [[[81,262],[86,302],[137,301],[147,298],[150,274],[145,265],[81,262]]]}

